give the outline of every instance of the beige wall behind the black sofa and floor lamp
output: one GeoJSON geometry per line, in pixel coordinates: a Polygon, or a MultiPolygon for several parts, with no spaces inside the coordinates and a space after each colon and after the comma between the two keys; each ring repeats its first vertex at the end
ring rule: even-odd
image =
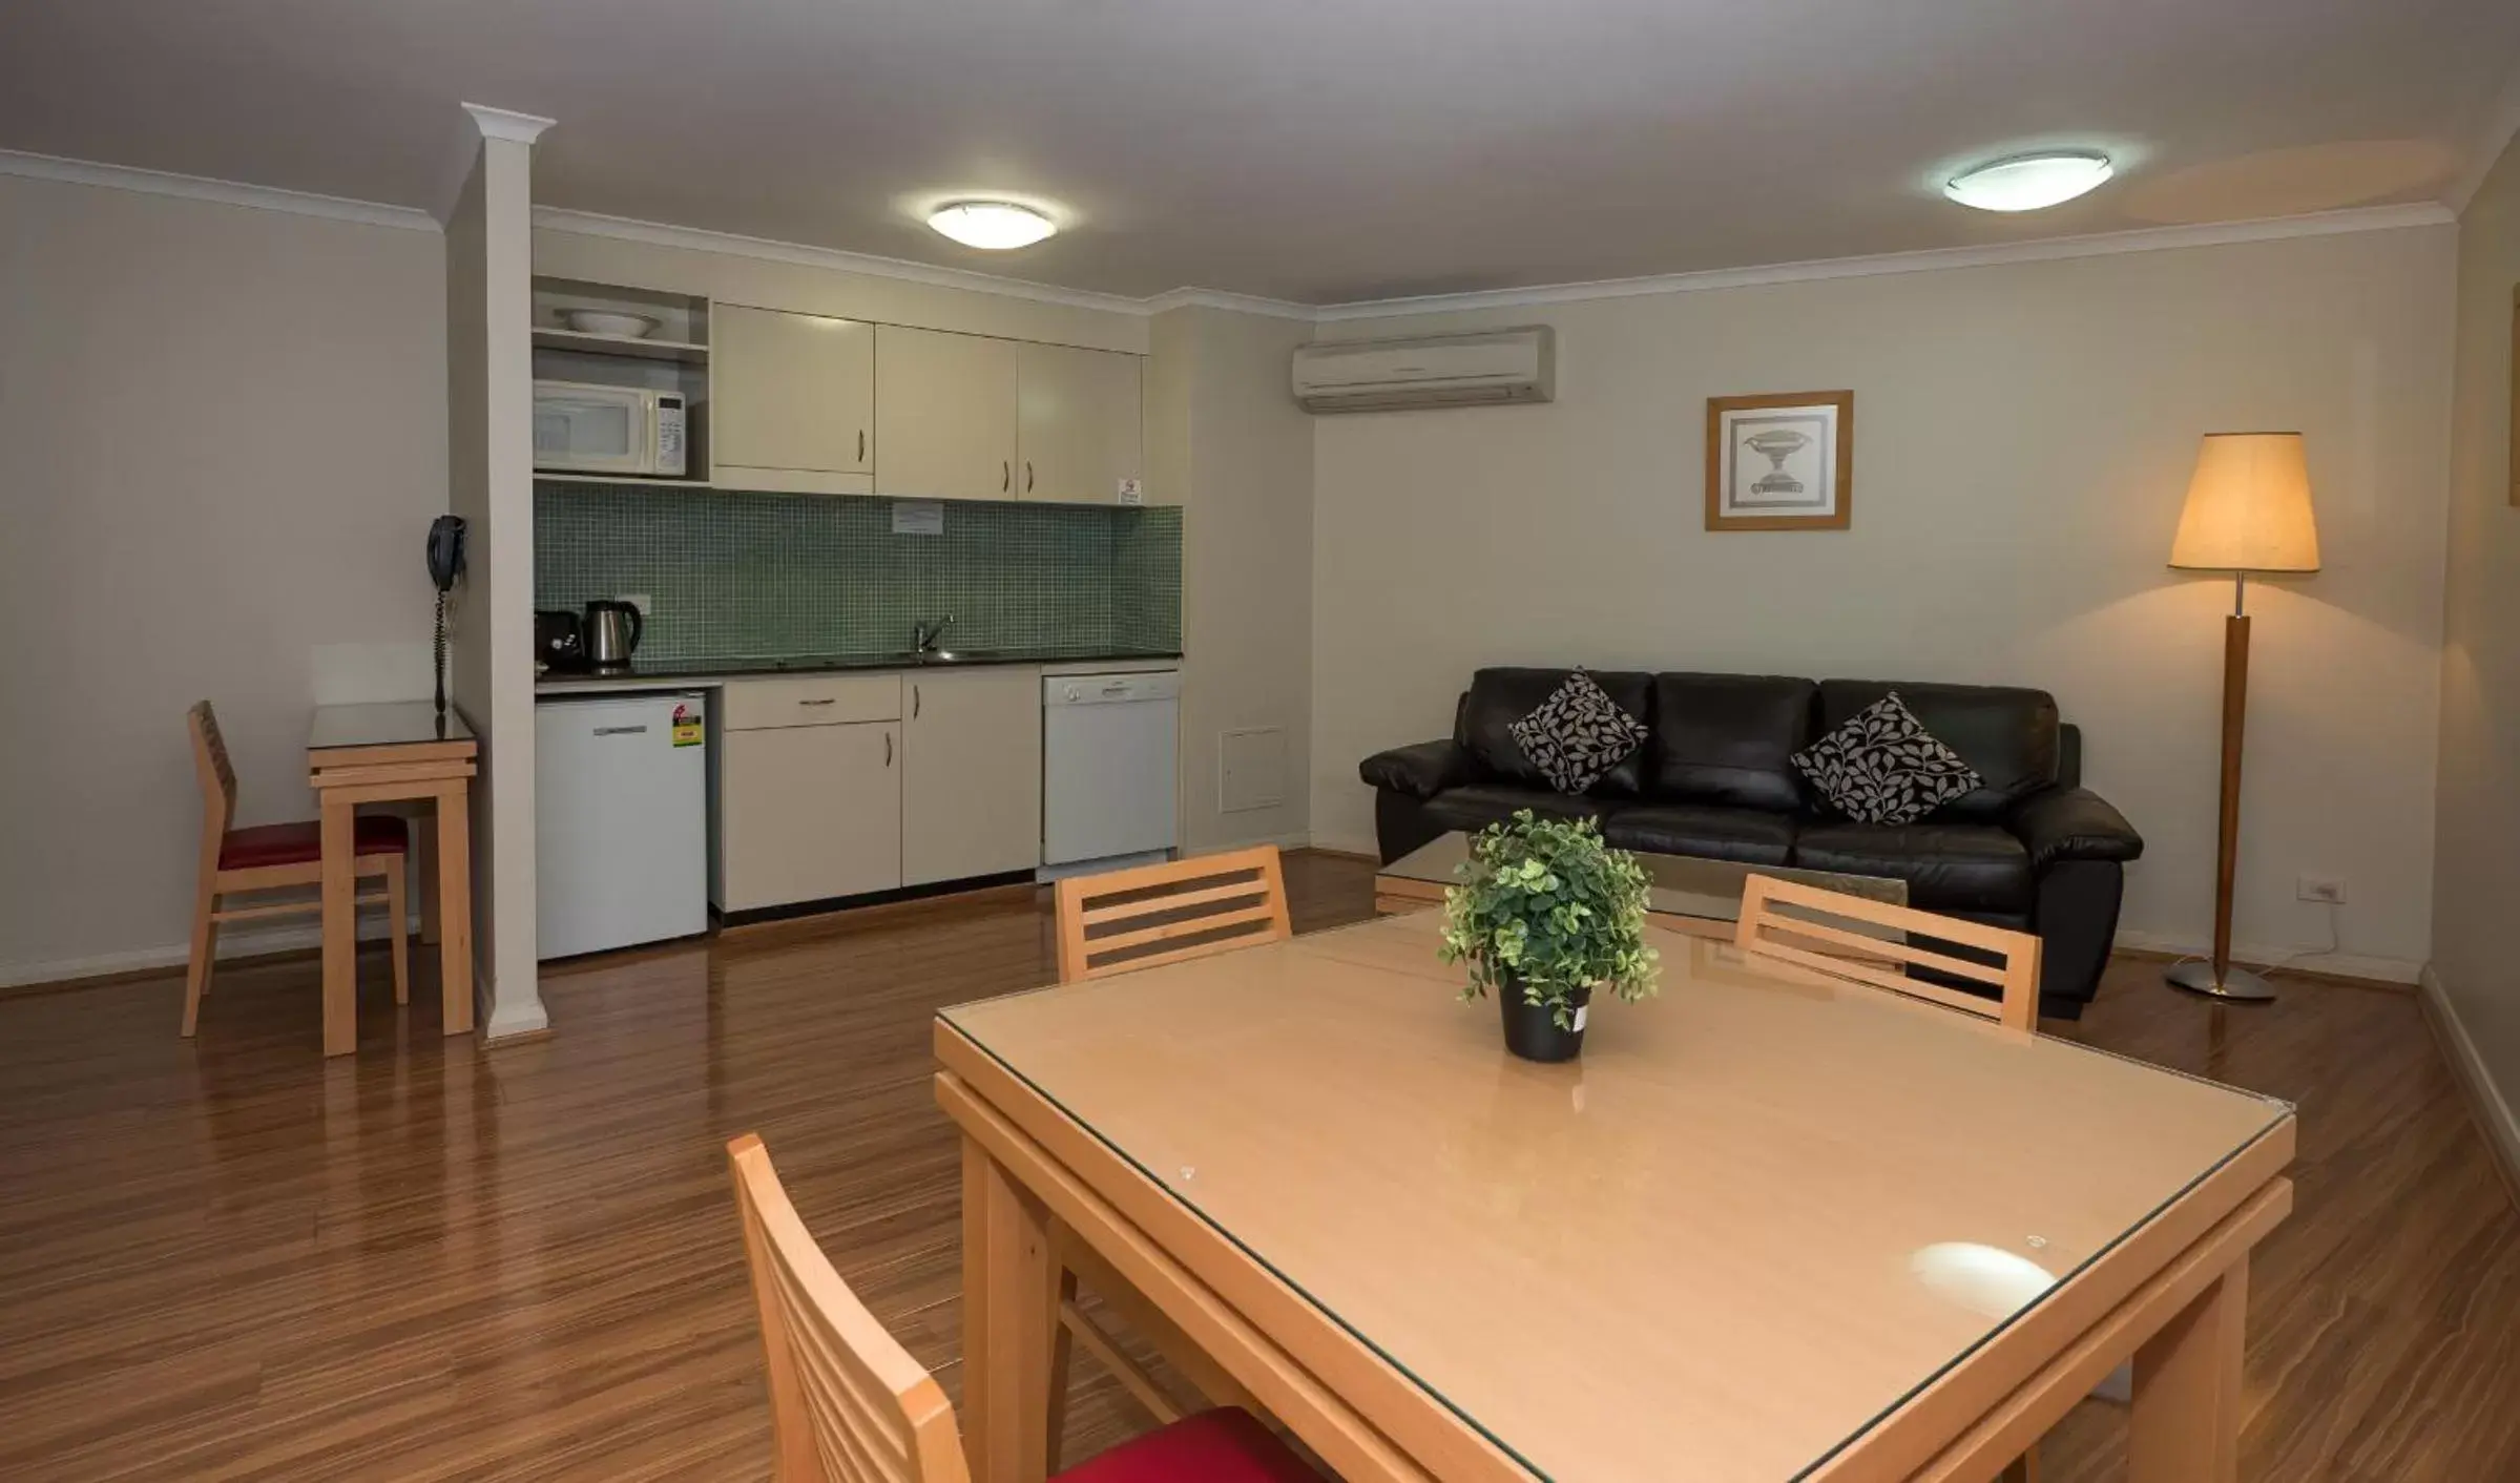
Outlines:
{"type": "Polygon", "coordinates": [[[1318,418],[1313,833],[1371,841],[1366,753],[1477,665],[2019,682],[2147,838],[2124,927],[2213,911],[2230,584],[2165,569],[2197,436],[2301,428],[2326,572],[2253,584],[2238,939],[2412,977],[2432,916],[2449,227],[1547,310],[1557,403],[1318,418]],[[1709,395],[1855,390],[1855,526],[1709,534],[1709,395]]]}

